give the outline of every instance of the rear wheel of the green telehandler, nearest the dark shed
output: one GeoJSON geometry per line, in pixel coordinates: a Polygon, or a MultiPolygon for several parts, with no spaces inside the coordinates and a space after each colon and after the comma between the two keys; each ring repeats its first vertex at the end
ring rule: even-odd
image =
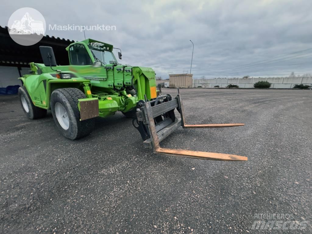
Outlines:
{"type": "Polygon", "coordinates": [[[24,86],[18,88],[18,97],[22,109],[29,119],[40,119],[46,116],[46,109],[39,108],[32,103],[32,99],[24,86]]]}

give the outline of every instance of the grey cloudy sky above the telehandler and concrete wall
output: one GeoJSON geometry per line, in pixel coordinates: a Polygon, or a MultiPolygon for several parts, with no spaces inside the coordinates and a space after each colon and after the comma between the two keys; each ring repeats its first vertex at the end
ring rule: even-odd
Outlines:
{"type": "Polygon", "coordinates": [[[15,0],[1,5],[2,27],[18,8],[33,7],[45,17],[46,34],[65,39],[79,41],[84,35],[48,25],[116,26],[85,34],[121,48],[123,64],[152,67],[163,79],[168,72],[190,71],[189,40],[195,45],[194,78],[312,73],[311,0],[15,0]]]}

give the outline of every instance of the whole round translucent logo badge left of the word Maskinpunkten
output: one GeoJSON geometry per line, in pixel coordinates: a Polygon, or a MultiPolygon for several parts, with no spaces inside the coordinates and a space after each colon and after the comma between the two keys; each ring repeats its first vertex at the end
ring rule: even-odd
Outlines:
{"type": "Polygon", "coordinates": [[[23,7],[13,12],[7,26],[13,41],[23,46],[36,44],[46,32],[44,17],[31,7],[23,7]]]}

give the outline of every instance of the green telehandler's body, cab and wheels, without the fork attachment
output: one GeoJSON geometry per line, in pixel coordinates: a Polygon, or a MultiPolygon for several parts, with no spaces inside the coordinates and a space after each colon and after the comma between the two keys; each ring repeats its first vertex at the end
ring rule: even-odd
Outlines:
{"type": "Polygon", "coordinates": [[[66,50],[70,65],[57,66],[53,49],[40,46],[44,64],[30,63],[32,74],[19,78],[23,86],[18,94],[30,119],[42,118],[51,109],[61,133],[78,139],[91,133],[94,117],[116,111],[134,117],[144,95],[156,98],[154,70],[117,63],[112,45],[86,39],[66,50]]]}

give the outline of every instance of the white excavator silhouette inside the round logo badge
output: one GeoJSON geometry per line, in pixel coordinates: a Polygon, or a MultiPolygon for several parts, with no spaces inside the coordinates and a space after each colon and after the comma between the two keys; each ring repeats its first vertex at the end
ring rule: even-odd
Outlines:
{"type": "Polygon", "coordinates": [[[14,20],[9,34],[44,34],[43,22],[33,20],[28,12],[22,17],[21,20],[14,20]],[[27,22],[27,24],[26,24],[27,22]]]}

